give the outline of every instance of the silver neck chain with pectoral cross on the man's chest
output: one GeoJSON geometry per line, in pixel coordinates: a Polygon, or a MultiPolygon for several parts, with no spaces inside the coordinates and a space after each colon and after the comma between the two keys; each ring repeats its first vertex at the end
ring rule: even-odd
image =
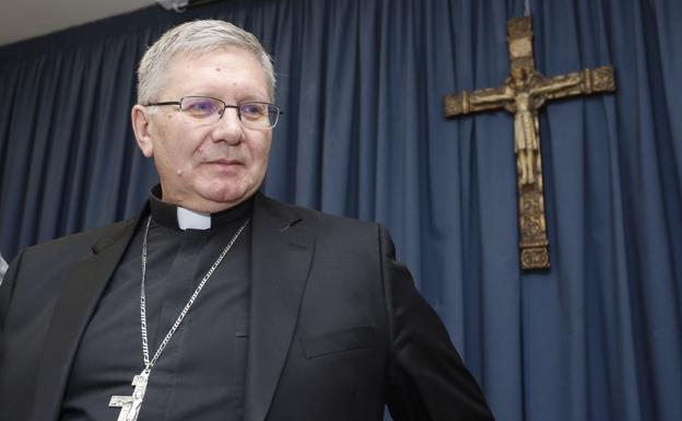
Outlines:
{"type": "Polygon", "coordinates": [[[197,296],[201,292],[201,289],[203,289],[203,285],[207,283],[209,278],[211,278],[211,274],[213,274],[215,268],[217,268],[221,261],[223,261],[223,258],[225,257],[227,252],[230,252],[232,245],[237,241],[239,234],[242,234],[242,231],[244,231],[246,225],[248,225],[250,219],[247,219],[246,222],[239,227],[239,230],[237,230],[237,232],[232,236],[232,239],[230,239],[230,243],[227,243],[225,248],[223,248],[223,250],[221,252],[220,256],[217,256],[217,259],[215,259],[213,266],[211,266],[211,269],[209,269],[209,271],[203,276],[203,279],[201,280],[201,282],[199,282],[199,285],[197,285],[197,289],[187,301],[187,304],[185,304],[185,307],[180,311],[177,319],[175,320],[173,326],[170,326],[170,329],[168,329],[166,337],[158,346],[158,349],[154,353],[154,356],[150,360],[146,339],[146,295],[144,292],[144,278],[146,276],[146,237],[149,235],[151,222],[152,217],[150,215],[146,220],[146,227],[144,229],[144,237],[142,241],[142,280],[140,282],[140,325],[142,331],[142,354],[144,358],[144,370],[132,379],[132,385],[134,386],[134,391],[132,393],[132,396],[111,397],[111,400],[109,401],[109,407],[121,408],[121,412],[118,416],[118,421],[136,421],[138,419],[138,414],[140,413],[140,408],[142,406],[142,400],[144,400],[146,383],[152,372],[152,367],[154,366],[154,364],[156,364],[156,361],[158,361],[161,353],[170,341],[170,338],[173,338],[173,335],[177,330],[178,326],[180,326],[180,324],[185,319],[187,312],[189,312],[189,308],[195,303],[195,300],[197,300],[197,296]]]}

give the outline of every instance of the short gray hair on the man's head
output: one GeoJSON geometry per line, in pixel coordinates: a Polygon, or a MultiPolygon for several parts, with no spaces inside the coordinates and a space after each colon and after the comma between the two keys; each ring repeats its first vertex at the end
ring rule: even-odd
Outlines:
{"type": "Polygon", "coordinates": [[[168,30],[142,56],[138,68],[138,103],[156,101],[163,87],[164,75],[170,60],[181,52],[211,52],[223,47],[238,47],[252,52],[260,61],[274,97],[274,69],[272,58],[254,34],[230,22],[201,20],[186,22],[168,30]]]}

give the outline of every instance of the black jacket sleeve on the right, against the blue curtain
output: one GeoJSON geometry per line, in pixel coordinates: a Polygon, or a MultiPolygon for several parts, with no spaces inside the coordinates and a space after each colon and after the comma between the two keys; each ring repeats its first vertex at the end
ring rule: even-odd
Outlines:
{"type": "Polygon", "coordinates": [[[445,326],[414,288],[379,226],[390,355],[386,400],[395,421],[492,421],[483,393],[445,326]]]}

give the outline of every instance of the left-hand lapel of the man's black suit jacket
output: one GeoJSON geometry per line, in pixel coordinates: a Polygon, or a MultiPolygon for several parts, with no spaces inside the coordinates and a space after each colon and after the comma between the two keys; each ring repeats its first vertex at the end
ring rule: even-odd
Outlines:
{"type": "Polygon", "coordinates": [[[75,264],[67,274],[45,337],[31,420],[59,418],[75,350],[137,222],[139,218],[127,221],[116,232],[102,237],[92,246],[93,255],[75,264]]]}

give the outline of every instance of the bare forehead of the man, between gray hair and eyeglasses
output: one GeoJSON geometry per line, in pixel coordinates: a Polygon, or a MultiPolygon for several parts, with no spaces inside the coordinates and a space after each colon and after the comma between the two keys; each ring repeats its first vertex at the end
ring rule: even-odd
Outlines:
{"type": "Polygon", "coordinates": [[[258,57],[244,48],[178,52],[166,70],[165,92],[178,95],[237,95],[269,97],[268,78],[258,57]]]}

